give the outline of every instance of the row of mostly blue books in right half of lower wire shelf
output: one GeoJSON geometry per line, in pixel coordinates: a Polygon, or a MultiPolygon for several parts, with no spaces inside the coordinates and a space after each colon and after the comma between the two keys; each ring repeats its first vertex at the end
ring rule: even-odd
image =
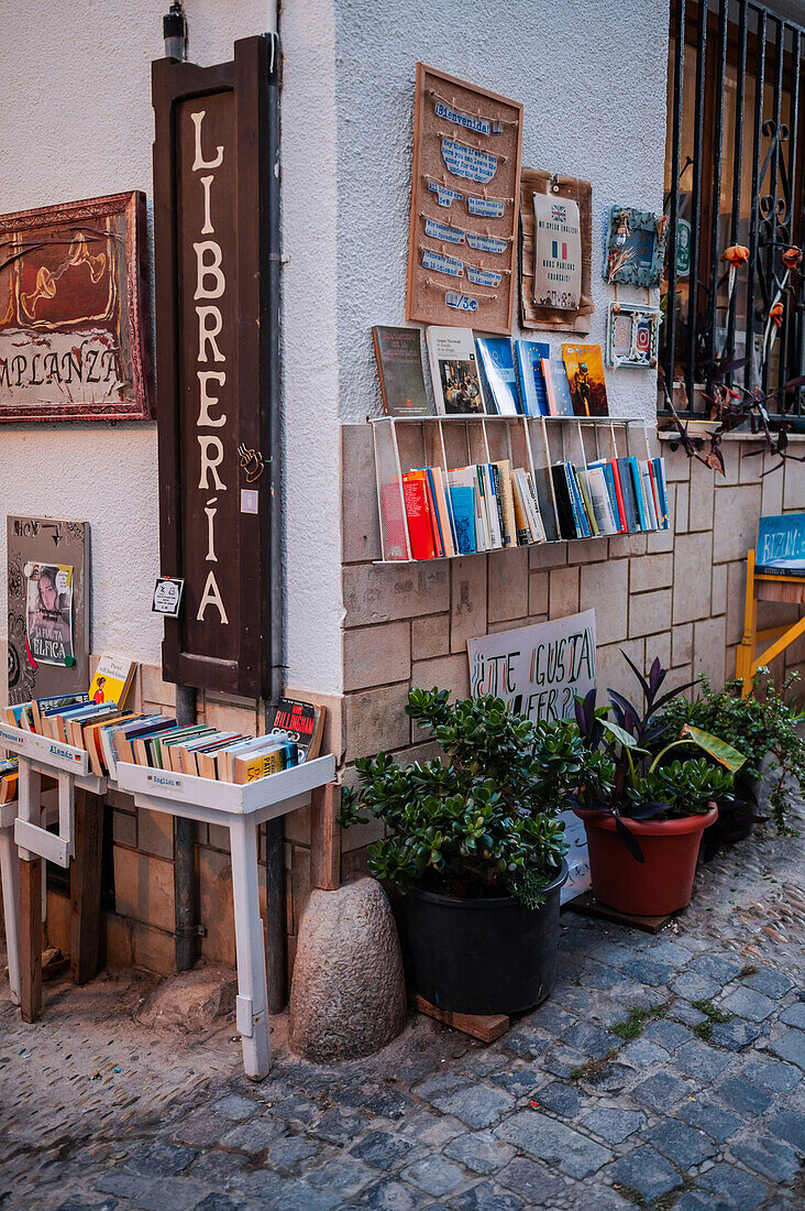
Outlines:
{"type": "Polygon", "coordinates": [[[556,463],[551,476],[562,538],[669,528],[663,458],[556,463]]]}

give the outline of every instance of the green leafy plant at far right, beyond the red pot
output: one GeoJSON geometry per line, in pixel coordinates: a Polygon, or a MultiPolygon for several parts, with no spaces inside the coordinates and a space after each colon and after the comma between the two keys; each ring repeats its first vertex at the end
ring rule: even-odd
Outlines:
{"type": "Polygon", "coordinates": [[[782,690],[774,683],[767,668],[755,673],[749,693],[743,696],[743,683],[728,682],[721,690],[714,690],[706,677],[701,679],[701,691],[692,702],[675,699],[662,712],[667,734],[679,734],[685,724],[718,734],[746,756],[735,779],[734,803],[711,830],[705,839],[705,857],[712,857],[719,840],[741,840],[758,820],[758,794],[764,761],[769,758],[766,771],[774,777],[767,804],[777,831],[790,834],[787,823],[792,796],[797,788],[805,791],[805,740],[799,728],[805,712],[797,708],[792,687],[799,673],[792,673],[782,690]],[[709,843],[709,844],[708,844],[709,843]]]}

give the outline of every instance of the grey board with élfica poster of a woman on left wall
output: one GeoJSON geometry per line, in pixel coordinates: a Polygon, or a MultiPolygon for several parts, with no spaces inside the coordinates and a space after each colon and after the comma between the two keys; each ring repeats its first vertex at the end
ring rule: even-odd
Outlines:
{"type": "Polygon", "coordinates": [[[7,517],[8,702],[90,684],[90,526],[7,517]]]}

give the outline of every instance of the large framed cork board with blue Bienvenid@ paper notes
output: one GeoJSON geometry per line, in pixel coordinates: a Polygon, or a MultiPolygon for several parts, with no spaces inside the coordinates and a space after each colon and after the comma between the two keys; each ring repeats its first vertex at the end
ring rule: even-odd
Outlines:
{"type": "Polygon", "coordinates": [[[523,107],[416,64],[406,317],[512,331],[523,107]]]}

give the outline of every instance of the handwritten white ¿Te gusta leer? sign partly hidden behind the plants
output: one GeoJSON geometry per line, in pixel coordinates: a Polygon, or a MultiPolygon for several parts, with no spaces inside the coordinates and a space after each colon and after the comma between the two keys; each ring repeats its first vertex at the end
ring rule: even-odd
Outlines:
{"type": "MultiPolygon", "coordinates": [[[[535,622],[499,635],[467,641],[470,689],[473,696],[495,694],[516,714],[557,722],[573,714],[574,699],[596,684],[596,612],[535,622]]],[[[563,811],[568,882],[562,903],[590,886],[585,826],[563,811]]]]}

